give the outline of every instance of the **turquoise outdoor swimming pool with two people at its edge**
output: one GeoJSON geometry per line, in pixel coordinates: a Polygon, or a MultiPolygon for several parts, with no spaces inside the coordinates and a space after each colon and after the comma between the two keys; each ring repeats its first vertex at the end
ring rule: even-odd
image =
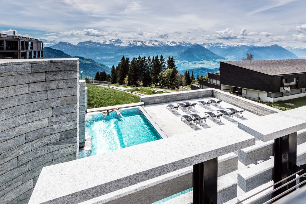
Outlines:
{"type": "Polygon", "coordinates": [[[161,139],[139,108],[89,114],[85,121],[86,138],[91,137],[91,150],[80,151],[79,158],[101,154],[161,139]]]}

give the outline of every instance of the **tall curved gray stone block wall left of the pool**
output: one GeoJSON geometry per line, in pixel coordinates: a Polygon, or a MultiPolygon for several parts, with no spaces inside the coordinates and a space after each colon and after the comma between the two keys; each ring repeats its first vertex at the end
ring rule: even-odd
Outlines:
{"type": "Polygon", "coordinates": [[[78,59],[0,60],[1,204],[27,203],[43,167],[77,158],[78,73],[78,59]]]}

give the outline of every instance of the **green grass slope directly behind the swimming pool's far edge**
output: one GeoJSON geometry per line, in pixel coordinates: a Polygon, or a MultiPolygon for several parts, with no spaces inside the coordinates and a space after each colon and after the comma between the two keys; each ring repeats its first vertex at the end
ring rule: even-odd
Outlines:
{"type": "Polygon", "coordinates": [[[100,108],[111,105],[121,105],[137,103],[139,96],[125,93],[123,91],[104,88],[92,84],[86,84],[87,87],[87,108],[100,108]]]}

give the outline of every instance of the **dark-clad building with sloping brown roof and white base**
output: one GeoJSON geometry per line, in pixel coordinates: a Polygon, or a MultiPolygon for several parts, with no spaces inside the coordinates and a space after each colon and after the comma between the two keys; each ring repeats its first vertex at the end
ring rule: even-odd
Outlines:
{"type": "Polygon", "coordinates": [[[271,102],[306,96],[306,59],[220,62],[220,90],[271,102]]]}

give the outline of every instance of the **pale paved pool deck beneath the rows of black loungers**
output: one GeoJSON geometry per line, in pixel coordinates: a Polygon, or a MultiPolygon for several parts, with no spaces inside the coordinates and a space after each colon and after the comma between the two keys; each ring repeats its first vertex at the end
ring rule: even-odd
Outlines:
{"type": "Polygon", "coordinates": [[[226,108],[234,108],[236,110],[241,110],[241,108],[238,108],[232,104],[228,104],[225,101],[222,101],[220,103],[220,106],[217,105],[217,107],[215,107],[214,105],[210,104],[210,108],[209,107],[204,107],[204,105],[202,104],[197,104],[195,105],[195,109],[191,109],[191,110],[184,110],[179,108],[178,113],[176,111],[174,111],[172,113],[171,109],[166,108],[167,104],[173,104],[176,105],[177,103],[183,103],[183,102],[190,102],[190,103],[195,103],[198,102],[199,100],[204,100],[205,102],[207,102],[207,100],[218,100],[217,98],[214,97],[207,97],[207,98],[199,98],[196,100],[185,100],[185,101],[173,101],[171,103],[161,103],[161,104],[152,104],[152,105],[146,105],[145,106],[145,111],[150,115],[151,119],[154,120],[154,122],[160,127],[160,129],[167,135],[167,137],[172,137],[175,135],[179,135],[179,134],[185,134],[185,133],[190,133],[192,131],[197,131],[197,130],[201,130],[201,129],[207,129],[210,127],[215,127],[215,126],[220,126],[220,125],[224,125],[224,124],[231,124],[231,125],[238,125],[238,122],[247,120],[247,119],[251,119],[251,118],[256,118],[256,117],[260,117],[256,114],[250,113],[248,111],[244,111],[243,117],[241,115],[238,115],[238,117],[236,116],[236,114],[233,115],[233,119],[230,117],[228,118],[228,120],[226,119],[226,116],[222,116],[221,117],[221,122],[218,120],[209,117],[208,119],[206,119],[206,123],[202,122],[199,124],[197,124],[197,126],[195,124],[191,124],[191,127],[189,126],[189,123],[183,119],[181,120],[181,116],[182,115],[190,115],[190,114],[198,114],[201,117],[204,117],[205,112],[210,111],[213,113],[217,113],[218,110],[225,110],[226,108]]]}

